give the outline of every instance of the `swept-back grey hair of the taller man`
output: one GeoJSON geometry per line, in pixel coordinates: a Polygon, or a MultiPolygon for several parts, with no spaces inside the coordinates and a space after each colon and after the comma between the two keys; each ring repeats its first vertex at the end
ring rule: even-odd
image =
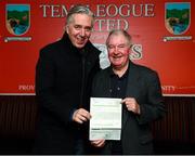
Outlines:
{"type": "Polygon", "coordinates": [[[68,25],[69,23],[73,22],[73,15],[74,14],[87,14],[89,16],[92,17],[92,25],[93,25],[93,22],[94,22],[94,14],[93,12],[86,5],[80,5],[80,4],[77,4],[77,5],[74,5],[68,14],[67,14],[67,17],[66,17],[66,25],[68,25]]]}

